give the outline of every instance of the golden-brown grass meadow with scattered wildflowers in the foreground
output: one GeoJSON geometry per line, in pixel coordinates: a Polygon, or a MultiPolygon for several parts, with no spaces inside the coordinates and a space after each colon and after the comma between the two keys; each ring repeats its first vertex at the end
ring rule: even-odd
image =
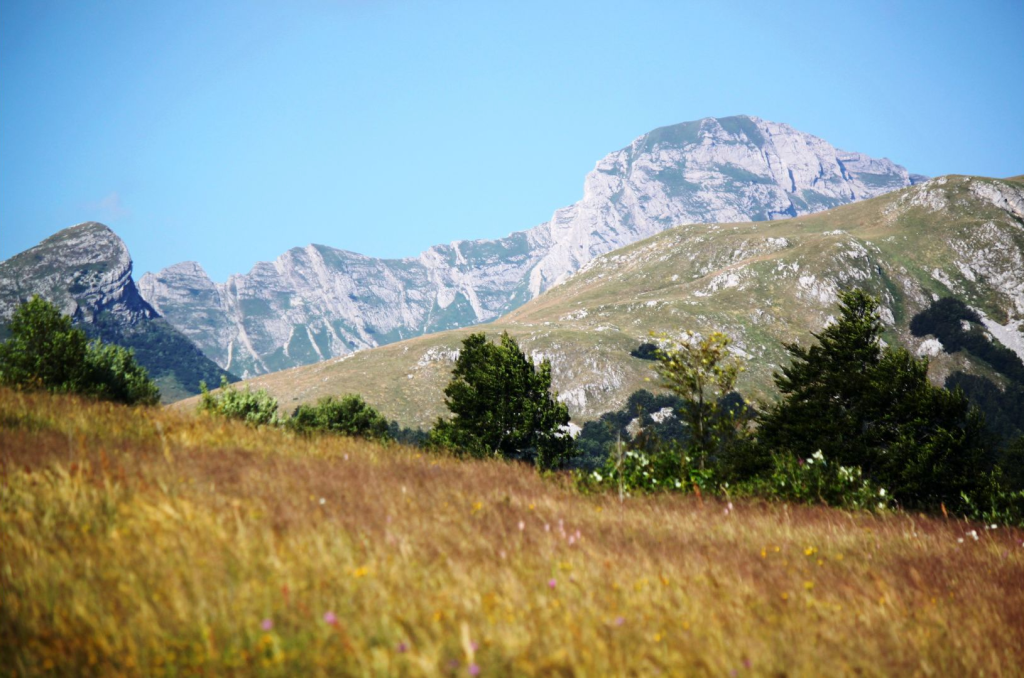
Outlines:
{"type": "Polygon", "coordinates": [[[8,675],[1024,672],[1024,533],[952,516],[621,504],[9,390],[0,460],[8,675]]]}

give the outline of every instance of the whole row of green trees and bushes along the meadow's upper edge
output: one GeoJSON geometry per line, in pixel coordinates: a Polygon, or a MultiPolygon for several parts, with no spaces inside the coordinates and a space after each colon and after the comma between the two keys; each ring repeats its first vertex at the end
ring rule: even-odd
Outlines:
{"type": "MultiPolygon", "coordinates": [[[[89,342],[39,298],[17,309],[10,331],[0,345],[0,383],[129,405],[159,400],[131,351],[89,342]]],[[[239,390],[223,378],[216,393],[202,385],[199,410],[304,435],[397,439],[567,470],[583,492],[699,492],[1024,525],[1024,436],[998,444],[963,390],[928,381],[927,358],[884,346],[877,299],[842,293],[838,320],[812,337],[810,346],[785,346],[791,363],[774,376],[779,397],[761,411],[735,390],[743,366],[729,337],[652,337],[637,356],[652,361],[666,393],[634,394],[627,435],[626,415],[609,413],[588,423],[579,441],[551,390],[550,363],[535,365],[507,333],[498,343],[482,333],[463,341],[444,388],[450,416],[426,432],[388,422],[354,394],[282,417],[265,390],[239,390]],[[654,425],[644,406],[672,416],[654,425]]],[[[1010,361],[1005,351],[998,357],[1010,361]]]]}

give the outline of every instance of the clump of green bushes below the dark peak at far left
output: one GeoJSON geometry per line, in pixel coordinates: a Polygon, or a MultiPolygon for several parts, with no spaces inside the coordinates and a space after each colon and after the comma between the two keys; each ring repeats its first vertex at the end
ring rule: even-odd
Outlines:
{"type": "Polygon", "coordinates": [[[160,390],[130,349],[89,342],[53,304],[36,296],[14,311],[0,344],[0,383],[79,393],[126,405],[156,405],[160,390]]]}

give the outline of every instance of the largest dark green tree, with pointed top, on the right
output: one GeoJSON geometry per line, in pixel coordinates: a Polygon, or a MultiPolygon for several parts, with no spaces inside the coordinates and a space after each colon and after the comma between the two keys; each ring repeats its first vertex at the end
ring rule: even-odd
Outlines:
{"type": "Polygon", "coordinates": [[[983,418],[963,392],[929,383],[927,359],[883,350],[874,298],[843,293],[840,315],[811,348],[786,346],[794,362],[775,377],[782,399],[761,420],[762,454],[824,451],[904,507],[959,508],[988,465],[983,418]]]}

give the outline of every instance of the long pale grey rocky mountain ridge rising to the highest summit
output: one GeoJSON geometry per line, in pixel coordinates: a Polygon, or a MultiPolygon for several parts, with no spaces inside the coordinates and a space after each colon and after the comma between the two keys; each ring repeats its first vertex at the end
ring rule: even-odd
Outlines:
{"type": "Polygon", "coordinates": [[[706,118],[605,157],[587,175],[583,200],[501,240],[407,259],[309,245],[223,284],[185,262],[146,273],[139,289],[218,365],[252,376],[495,320],[594,257],[680,223],[790,218],[918,178],[788,125],[706,118]]]}

